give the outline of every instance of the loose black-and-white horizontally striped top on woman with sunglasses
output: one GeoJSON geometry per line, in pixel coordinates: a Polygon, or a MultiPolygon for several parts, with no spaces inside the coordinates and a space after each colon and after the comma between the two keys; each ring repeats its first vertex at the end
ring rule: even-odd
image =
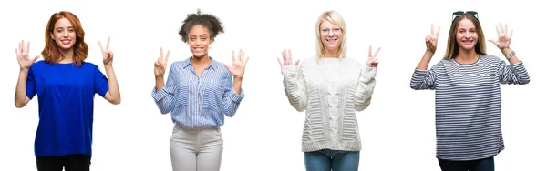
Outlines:
{"type": "Polygon", "coordinates": [[[495,55],[480,55],[470,65],[448,59],[428,71],[417,69],[410,87],[435,89],[437,157],[476,160],[496,156],[505,148],[500,84],[528,82],[521,62],[507,65],[495,55]]]}

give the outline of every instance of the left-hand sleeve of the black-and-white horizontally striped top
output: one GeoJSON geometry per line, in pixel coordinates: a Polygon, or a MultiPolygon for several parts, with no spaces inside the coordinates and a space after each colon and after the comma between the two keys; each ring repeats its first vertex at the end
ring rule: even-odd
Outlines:
{"type": "Polygon", "coordinates": [[[439,65],[440,63],[427,71],[415,69],[410,79],[410,88],[415,90],[435,89],[439,65]]]}

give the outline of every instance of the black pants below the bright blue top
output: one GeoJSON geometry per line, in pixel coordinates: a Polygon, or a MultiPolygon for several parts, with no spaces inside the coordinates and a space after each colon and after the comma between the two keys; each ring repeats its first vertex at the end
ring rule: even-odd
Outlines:
{"type": "Polygon", "coordinates": [[[36,156],[38,171],[89,171],[91,158],[85,155],[36,156]]]}

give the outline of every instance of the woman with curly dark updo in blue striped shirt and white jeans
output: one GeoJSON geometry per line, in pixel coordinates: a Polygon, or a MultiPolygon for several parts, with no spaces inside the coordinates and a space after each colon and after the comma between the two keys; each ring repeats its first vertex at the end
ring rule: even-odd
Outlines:
{"type": "Polygon", "coordinates": [[[224,116],[235,115],[243,99],[242,80],[248,58],[232,52],[233,65],[209,56],[209,45],[223,33],[220,20],[209,14],[190,14],[182,22],[182,41],[191,57],[170,65],[163,80],[170,52],[154,65],[156,87],[152,90],[161,114],[171,113],[174,127],[170,138],[171,166],[176,171],[220,170],[224,116]],[[233,78],[232,78],[233,76],[233,78]]]}

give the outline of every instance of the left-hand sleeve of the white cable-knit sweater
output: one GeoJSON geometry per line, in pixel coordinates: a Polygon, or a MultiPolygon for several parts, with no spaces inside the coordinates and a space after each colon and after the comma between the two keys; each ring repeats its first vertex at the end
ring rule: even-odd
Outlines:
{"type": "Polygon", "coordinates": [[[304,68],[297,65],[282,65],[281,74],[284,77],[283,85],[285,87],[285,95],[288,97],[291,106],[298,112],[302,112],[307,107],[308,97],[307,88],[305,86],[304,68]]]}

